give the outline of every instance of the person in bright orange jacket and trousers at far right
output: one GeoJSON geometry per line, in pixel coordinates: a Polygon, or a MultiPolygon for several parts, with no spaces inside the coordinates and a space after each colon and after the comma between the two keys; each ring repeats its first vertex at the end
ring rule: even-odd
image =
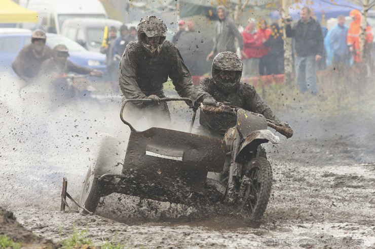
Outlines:
{"type": "MultiPolygon", "coordinates": [[[[361,18],[362,14],[359,10],[352,10],[350,16],[353,18],[353,21],[350,23],[347,43],[350,51],[353,54],[353,61],[358,63],[361,61],[360,47],[359,47],[359,37],[361,33],[361,18]]],[[[372,43],[372,32],[371,26],[367,25],[366,27],[366,40],[365,40],[365,49],[368,44],[372,43]]]]}

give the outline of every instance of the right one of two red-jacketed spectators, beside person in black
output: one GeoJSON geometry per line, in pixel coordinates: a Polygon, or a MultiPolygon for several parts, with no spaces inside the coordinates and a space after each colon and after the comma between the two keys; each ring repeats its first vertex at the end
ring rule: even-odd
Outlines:
{"type": "Polygon", "coordinates": [[[258,33],[261,39],[261,46],[259,49],[259,53],[261,55],[259,60],[259,74],[260,75],[267,75],[271,74],[270,66],[269,66],[269,56],[268,54],[271,51],[271,46],[265,46],[265,43],[270,35],[272,34],[272,30],[268,27],[266,20],[260,19],[258,22],[259,29],[258,33]]]}

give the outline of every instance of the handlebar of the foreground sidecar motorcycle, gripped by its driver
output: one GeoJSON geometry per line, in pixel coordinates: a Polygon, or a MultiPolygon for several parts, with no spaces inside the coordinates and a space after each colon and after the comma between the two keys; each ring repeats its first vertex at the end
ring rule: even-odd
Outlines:
{"type": "MultiPolygon", "coordinates": [[[[229,114],[229,115],[237,116],[237,111],[239,109],[242,109],[242,108],[231,106],[231,105],[224,105],[224,104],[221,104],[219,107],[205,106],[201,104],[201,111],[206,114],[229,114]]],[[[247,110],[246,112],[249,112],[252,115],[263,117],[264,119],[266,119],[265,116],[259,113],[253,113],[247,110]]],[[[280,134],[284,135],[285,137],[290,138],[293,136],[293,130],[291,128],[280,126],[275,121],[270,120],[270,119],[266,119],[266,121],[269,127],[275,129],[276,131],[278,131],[280,134]]]]}

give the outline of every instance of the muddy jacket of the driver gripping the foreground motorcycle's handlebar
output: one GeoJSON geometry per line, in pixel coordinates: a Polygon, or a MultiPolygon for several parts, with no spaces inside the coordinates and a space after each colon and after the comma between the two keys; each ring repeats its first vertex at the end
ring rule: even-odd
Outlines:
{"type": "MultiPolygon", "coordinates": [[[[262,101],[255,88],[240,82],[237,88],[226,94],[215,84],[212,77],[202,80],[197,88],[209,93],[217,102],[230,102],[231,105],[241,107],[250,112],[259,113],[271,120],[278,120],[271,109],[262,101]]],[[[236,125],[237,117],[227,114],[200,113],[199,123],[210,131],[224,134],[230,127],[236,125]]]]}

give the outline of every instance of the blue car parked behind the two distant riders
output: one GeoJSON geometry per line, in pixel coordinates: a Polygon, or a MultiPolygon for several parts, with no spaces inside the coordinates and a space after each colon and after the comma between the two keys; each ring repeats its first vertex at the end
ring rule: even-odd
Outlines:
{"type": "MultiPolygon", "coordinates": [[[[12,62],[19,51],[31,42],[31,30],[17,28],[0,28],[0,71],[12,68],[12,62]]],[[[106,74],[105,55],[87,51],[77,42],[59,35],[47,33],[46,45],[53,48],[64,44],[69,49],[69,60],[79,66],[85,66],[103,71],[106,74]]],[[[11,70],[13,71],[13,70],[11,70]]]]}

